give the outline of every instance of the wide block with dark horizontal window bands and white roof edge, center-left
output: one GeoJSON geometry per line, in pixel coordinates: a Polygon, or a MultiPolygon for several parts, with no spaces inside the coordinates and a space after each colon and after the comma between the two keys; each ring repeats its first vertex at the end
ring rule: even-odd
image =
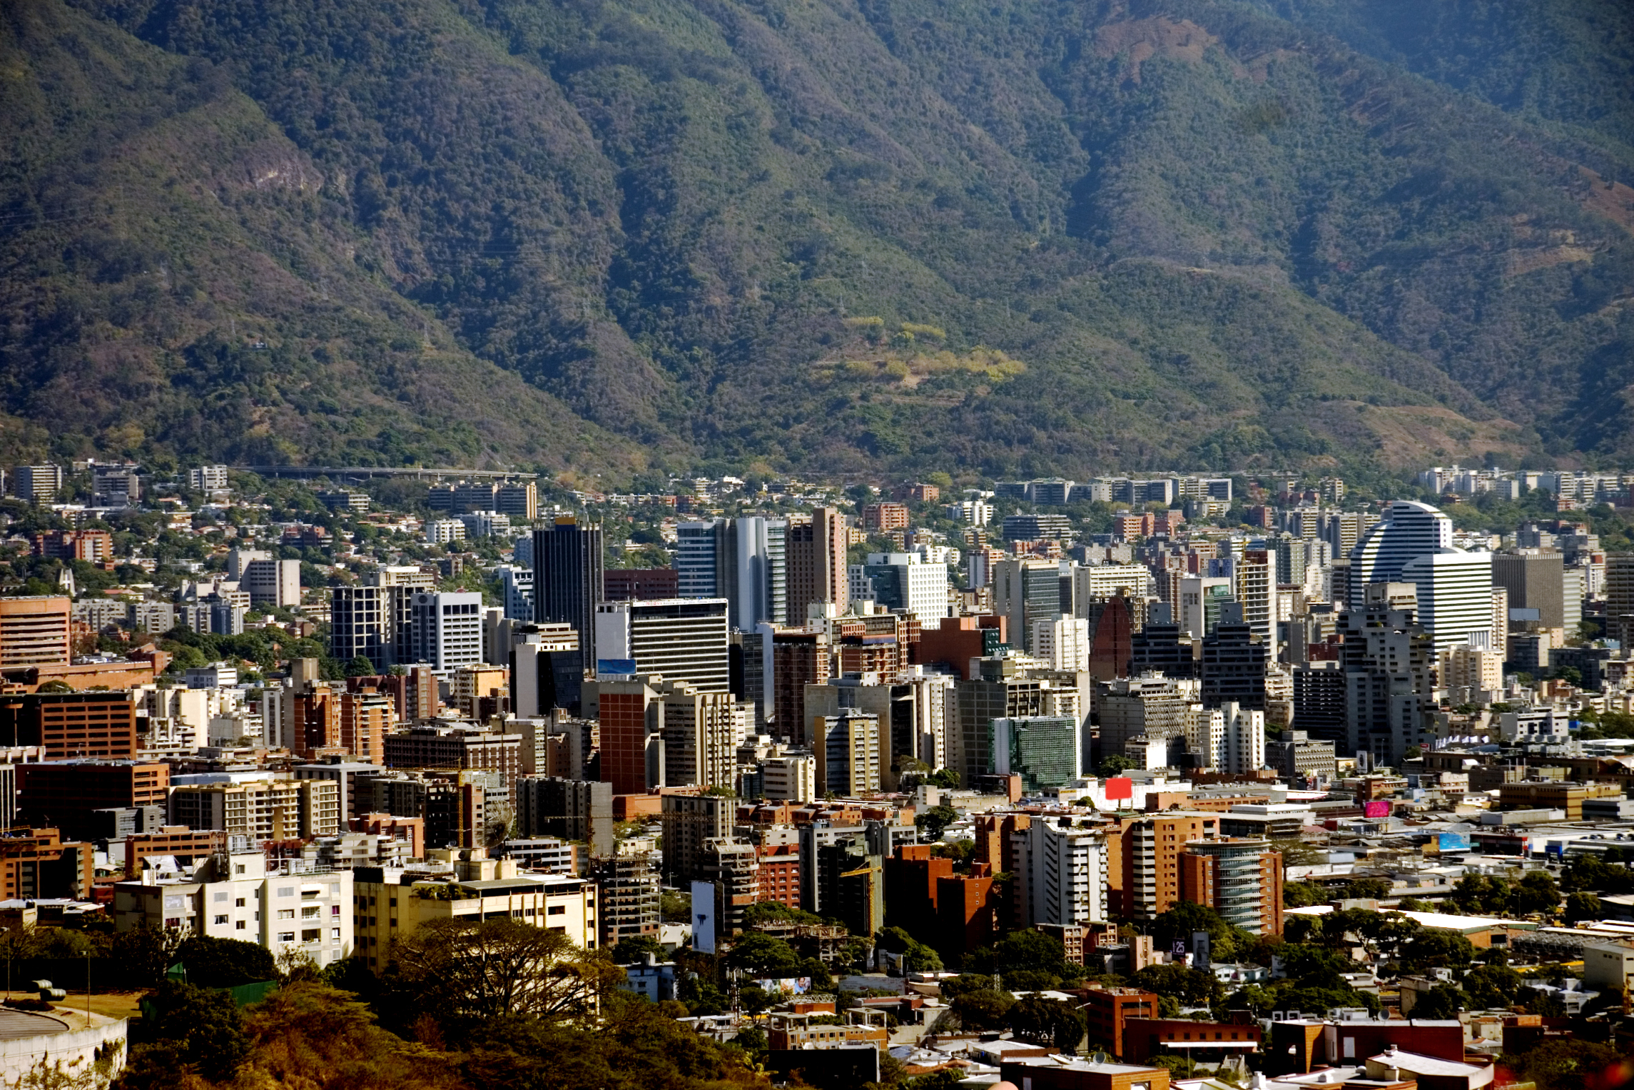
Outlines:
{"type": "Polygon", "coordinates": [[[595,613],[598,662],[634,662],[629,673],[662,673],[706,693],[725,693],[730,688],[725,611],[725,598],[603,601],[595,613]]]}

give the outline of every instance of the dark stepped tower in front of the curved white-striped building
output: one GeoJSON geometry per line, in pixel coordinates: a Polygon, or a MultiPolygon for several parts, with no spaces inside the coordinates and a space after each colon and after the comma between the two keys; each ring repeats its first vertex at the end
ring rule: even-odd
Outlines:
{"type": "Polygon", "coordinates": [[[1340,614],[1345,752],[1369,753],[1384,765],[1397,765],[1409,747],[1428,744],[1423,708],[1435,686],[1435,644],[1412,608],[1392,608],[1397,587],[1374,587],[1374,601],[1340,614]]]}

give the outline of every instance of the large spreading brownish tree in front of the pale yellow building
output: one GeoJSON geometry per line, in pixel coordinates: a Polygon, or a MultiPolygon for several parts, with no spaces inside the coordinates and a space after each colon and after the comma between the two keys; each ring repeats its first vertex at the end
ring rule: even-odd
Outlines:
{"type": "Polygon", "coordinates": [[[511,917],[433,920],[392,945],[397,984],[444,1025],[520,1013],[577,1018],[621,979],[605,954],[511,917]]]}

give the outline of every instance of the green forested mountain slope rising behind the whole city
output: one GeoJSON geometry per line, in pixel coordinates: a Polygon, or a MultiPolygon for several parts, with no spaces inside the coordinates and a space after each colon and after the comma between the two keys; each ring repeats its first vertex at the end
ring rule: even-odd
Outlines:
{"type": "Polygon", "coordinates": [[[1634,16],[1534,7],[18,0],[0,448],[1626,461],[1634,16]]]}

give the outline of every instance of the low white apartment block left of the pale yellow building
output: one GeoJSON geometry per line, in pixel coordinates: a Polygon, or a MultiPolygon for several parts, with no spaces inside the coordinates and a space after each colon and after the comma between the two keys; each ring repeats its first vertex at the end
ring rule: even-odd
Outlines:
{"type": "Polygon", "coordinates": [[[351,954],[351,871],[268,864],[260,850],[201,860],[191,871],[144,866],[114,884],[114,930],[180,930],[258,943],[273,954],[307,954],[328,966],[351,954]]]}

